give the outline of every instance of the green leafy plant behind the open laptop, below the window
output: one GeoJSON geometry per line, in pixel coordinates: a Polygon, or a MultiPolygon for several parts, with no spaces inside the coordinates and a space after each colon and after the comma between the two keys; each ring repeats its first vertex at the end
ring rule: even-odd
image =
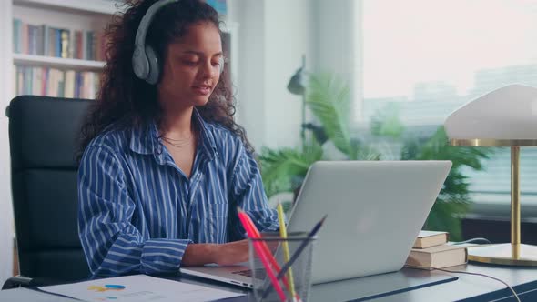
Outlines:
{"type": "MultiPolygon", "coordinates": [[[[305,102],[320,125],[304,125],[310,135],[299,148],[261,149],[259,161],[269,197],[280,192],[298,192],[309,166],[318,160],[381,160],[393,157],[392,154],[387,156],[386,148],[378,147],[381,144],[374,144],[375,147],[368,144],[368,140],[351,135],[349,96],[349,87],[339,77],[330,74],[309,76],[305,102]],[[331,149],[329,146],[332,146],[331,149]]],[[[373,117],[368,136],[375,141],[400,142],[396,159],[451,160],[451,172],[424,227],[448,231],[453,240],[459,240],[459,216],[466,213],[471,202],[468,179],[462,174],[461,167],[481,170],[481,160],[488,158],[491,151],[449,146],[442,126],[431,137],[411,136],[400,123],[397,110],[386,110],[373,117]]]]}

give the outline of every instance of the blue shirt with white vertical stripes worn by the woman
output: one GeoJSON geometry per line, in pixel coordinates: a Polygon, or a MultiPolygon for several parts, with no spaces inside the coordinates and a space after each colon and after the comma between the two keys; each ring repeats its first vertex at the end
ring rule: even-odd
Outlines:
{"type": "Polygon", "coordinates": [[[153,123],[108,129],[78,171],[78,232],[94,276],[177,272],[189,243],[244,238],[237,206],[260,230],[277,230],[258,165],[238,136],[203,121],[190,178],[153,123]]]}

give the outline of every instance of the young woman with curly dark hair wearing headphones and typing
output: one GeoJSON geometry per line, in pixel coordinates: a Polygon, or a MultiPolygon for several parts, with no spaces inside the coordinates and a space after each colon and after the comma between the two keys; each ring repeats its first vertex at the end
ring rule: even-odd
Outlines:
{"type": "Polygon", "coordinates": [[[218,14],[199,0],[127,5],[107,28],[102,88],[82,130],[78,228],[90,270],[246,261],[237,207],[264,231],[278,217],[232,118],[218,14]]]}

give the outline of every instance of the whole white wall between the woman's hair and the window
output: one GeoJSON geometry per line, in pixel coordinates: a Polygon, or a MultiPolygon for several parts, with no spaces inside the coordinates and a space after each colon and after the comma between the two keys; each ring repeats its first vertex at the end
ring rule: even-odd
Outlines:
{"type": "MultiPolygon", "coordinates": [[[[289,78],[306,55],[309,71],[329,71],[361,90],[360,1],[233,0],[238,22],[238,122],[256,149],[299,146],[301,96],[289,93],[289,78]],[[354,38],[351,38],[354,37],[354,38]]],[[[360,100],[356,100],[360,104],[360,100]]]]}

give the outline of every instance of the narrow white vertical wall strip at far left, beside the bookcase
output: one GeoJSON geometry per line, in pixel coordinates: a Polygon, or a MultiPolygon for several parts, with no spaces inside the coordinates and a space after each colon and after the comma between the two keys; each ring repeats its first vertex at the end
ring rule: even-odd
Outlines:
{"type": "Polygon", "coordinates": [[[9,143],[5,106],[13,91],[11,64],[11,1],[0,1],[0,285],[13,273],[13,211],[11,205],[11,178],[9,166],[9,143]]]}

